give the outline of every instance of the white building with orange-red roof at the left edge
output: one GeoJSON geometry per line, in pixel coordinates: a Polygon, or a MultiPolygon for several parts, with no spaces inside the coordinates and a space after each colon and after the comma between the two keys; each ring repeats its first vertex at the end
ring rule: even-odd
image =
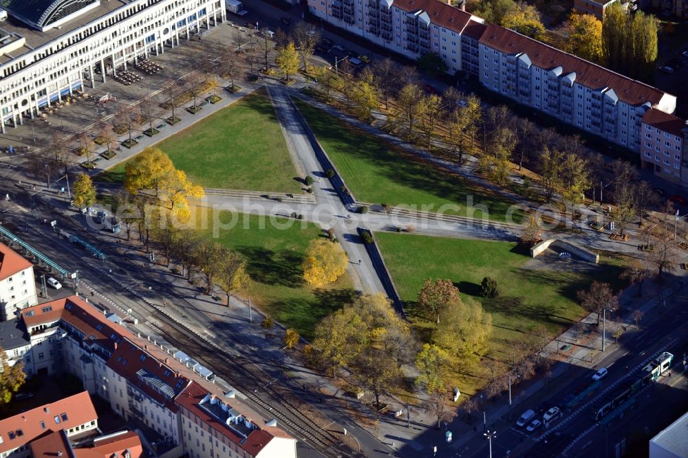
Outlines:
{"type": "Polygon", "coordinates": [[[15,318],[19,310],[36,302],[34,265],[0,243],[0,320],[15,318]]]}

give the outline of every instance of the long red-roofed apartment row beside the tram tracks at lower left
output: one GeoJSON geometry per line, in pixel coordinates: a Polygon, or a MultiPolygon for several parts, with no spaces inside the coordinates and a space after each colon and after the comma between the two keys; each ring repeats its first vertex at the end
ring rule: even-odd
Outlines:
{"type": "MultiPolygon", "coordinates": [[[[134,335],[116,316],[106,316],[78,296],[23,309],[20,320],[34,354],[40,339],[42,351],[53,349],[59,358],[54,373],[76,375],[84,389],[109,402],[112,411],[155,430],[164,438],[165,456],[296,457],[296,439],[271,419],[228,397],[175,358],[176,352],[134,335]],[[213,409],[208,413],[204,403],[220,403],[234,420],[241,417],[241,426],[213,409]]],[[[42,368],[34,362],[31,369],[52,373],[42,368]]]]}

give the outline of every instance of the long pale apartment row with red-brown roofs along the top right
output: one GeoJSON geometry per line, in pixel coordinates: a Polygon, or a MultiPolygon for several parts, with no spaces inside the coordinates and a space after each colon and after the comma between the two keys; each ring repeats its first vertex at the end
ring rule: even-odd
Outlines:
{"type": "Polygon", "coordinates": [[[676,109],[676,96],[440,0],[308,0],[308,6],[324,21],[409,58],[436,52],[450,73],[472,74],[491,91],[637,153],[645,113],[676,109]]]}

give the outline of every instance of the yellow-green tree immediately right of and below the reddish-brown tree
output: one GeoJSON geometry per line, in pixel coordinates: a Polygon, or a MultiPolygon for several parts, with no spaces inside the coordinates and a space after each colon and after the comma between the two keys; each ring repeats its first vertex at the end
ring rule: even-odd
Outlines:
{"type": "Polygon", "coordinates": [[[442,320],[432,333],[432,342],[462,362],[473,364],[487,350],[492,333],[492,316],[471,298],[442,310],[442,320]]]}

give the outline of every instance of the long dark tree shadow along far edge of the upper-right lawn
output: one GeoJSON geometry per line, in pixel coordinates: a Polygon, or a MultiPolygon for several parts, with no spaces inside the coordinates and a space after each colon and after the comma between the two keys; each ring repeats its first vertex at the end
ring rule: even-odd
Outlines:
{"type": "MultiPolygon", "coordinates": [[[[338,144],[350,155],[356,155],[365,161],[374,160],[372,165],[378,173],[386,175],[391,182],[396,182],[412,189],[424,190],[454,202],[461,208],[466,206],[466,197],[472,195],[473,206],[484,204],[493,213],[506,212],[512,203],[499,201],[498,196],[489,195],[489,191],[479,193],[467,188],[465,179],[455,173],[450,173],[435,164],[419,160],[418,157],[406,153],[393,145],[375,140],[367,133],[352,127],[350,124],[332,120],[332,116],[322,113],[322,116],[311,117],[308,123],[316,131],[321,142],[338,144]],[[336,128],[332,128],[333,124],[336,128]],[[351,148],[348,145],[356,145],[351,148]]],[[[358,191],[360,193],[360,190],[358,191]]],[[[429,202],[401,202],[401,204],[429,204],[429,202]]],[[[433,210],[437,210],[434,208],[433,210]]],[[[432,211],[432,210],[430,210],[432,211]]],[[[478,213],[476,215],[480,215],[478,213]]]]}

